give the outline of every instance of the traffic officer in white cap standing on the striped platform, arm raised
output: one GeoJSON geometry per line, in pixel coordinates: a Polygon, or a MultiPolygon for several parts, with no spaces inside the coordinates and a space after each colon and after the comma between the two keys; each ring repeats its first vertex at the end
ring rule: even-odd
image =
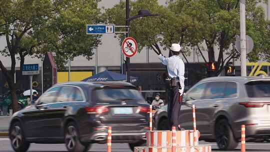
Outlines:
{"type": "Polygon", "coordinates": [[[158,58],[161,60],[162,64],[167,66],[168,76],[170,77],[171,81],[171,97],[170,101],[168,101],[167,111],[169,127],[171,128],[171,126],[176,126],[176,129],[180,129],[178,116],[184,89],[184,63],[180,56],[178,56],[180,49],[181,46],[174,43],[170,47],[172,56],[166,58],[162,56],[162,54],[158,55],[158,58]]]}

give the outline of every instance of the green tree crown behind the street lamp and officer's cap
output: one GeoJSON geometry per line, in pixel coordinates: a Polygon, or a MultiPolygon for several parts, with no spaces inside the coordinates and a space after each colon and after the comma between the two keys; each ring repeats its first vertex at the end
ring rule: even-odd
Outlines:
{"type": "MultiPolygon", "coordinates": [[[[181,53],[186,59],[189,54],[188,46],[191,44],[192,34],[198,29],[198,23],[186,14],[191,0],[183,0],[183,3],[171,3],[168,7],[160,5],[158,0],[136,0],[130,1],[130,16],[136,15],[139,9],[148,9],[151,13],[158,13],[156,17],[142,17],[134,19],[130,23],[130,36],[138,43],[139,51],[145,46],[151,48],[156,54],[161,49],[167,49],[171,43],[180,43],[185,49],[181,53]]],[[[108,23],[123,25],[125,22],[125,1],[120,2],[112,8],[106,9],[108,23]]],[[[120,29],[118,29],[120,30],[120,29]]],[[[124,29],[122,29],[124,30],[124,29]]],[[[119,43],[124,35],[118,34],[119,43]]]]}

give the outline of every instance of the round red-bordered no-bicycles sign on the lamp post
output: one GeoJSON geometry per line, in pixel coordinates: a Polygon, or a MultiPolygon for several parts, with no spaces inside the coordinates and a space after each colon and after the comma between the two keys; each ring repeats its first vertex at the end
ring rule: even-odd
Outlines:
{"type": "Polygon", "coordinates": [[[125,56],[131,57],[136,54],[138,49],[137,42],[132,37],[126,37],[122,42],[122,52],[125,56]]]}

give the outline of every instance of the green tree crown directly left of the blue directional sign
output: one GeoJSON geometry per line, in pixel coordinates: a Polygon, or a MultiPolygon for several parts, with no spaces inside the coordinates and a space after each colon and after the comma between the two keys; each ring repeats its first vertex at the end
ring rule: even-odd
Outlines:
{"type": "Polygon", "coordinates": [[[58,0],[54,16],[40,30],[42,52],[54,50],[56,64],[62,68],[68,58],[83,55],[91,59],[101,35],[86,35],[86,24],[102,22],[100,0],[58,0]]]}

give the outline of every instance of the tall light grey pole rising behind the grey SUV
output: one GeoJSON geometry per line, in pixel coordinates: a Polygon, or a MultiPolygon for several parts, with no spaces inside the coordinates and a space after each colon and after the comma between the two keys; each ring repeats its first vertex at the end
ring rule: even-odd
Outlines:
{"type": "Polygon", "coordinates": [[[241,76],[246,76],[245,0],[240,0],[241,76]]]}

